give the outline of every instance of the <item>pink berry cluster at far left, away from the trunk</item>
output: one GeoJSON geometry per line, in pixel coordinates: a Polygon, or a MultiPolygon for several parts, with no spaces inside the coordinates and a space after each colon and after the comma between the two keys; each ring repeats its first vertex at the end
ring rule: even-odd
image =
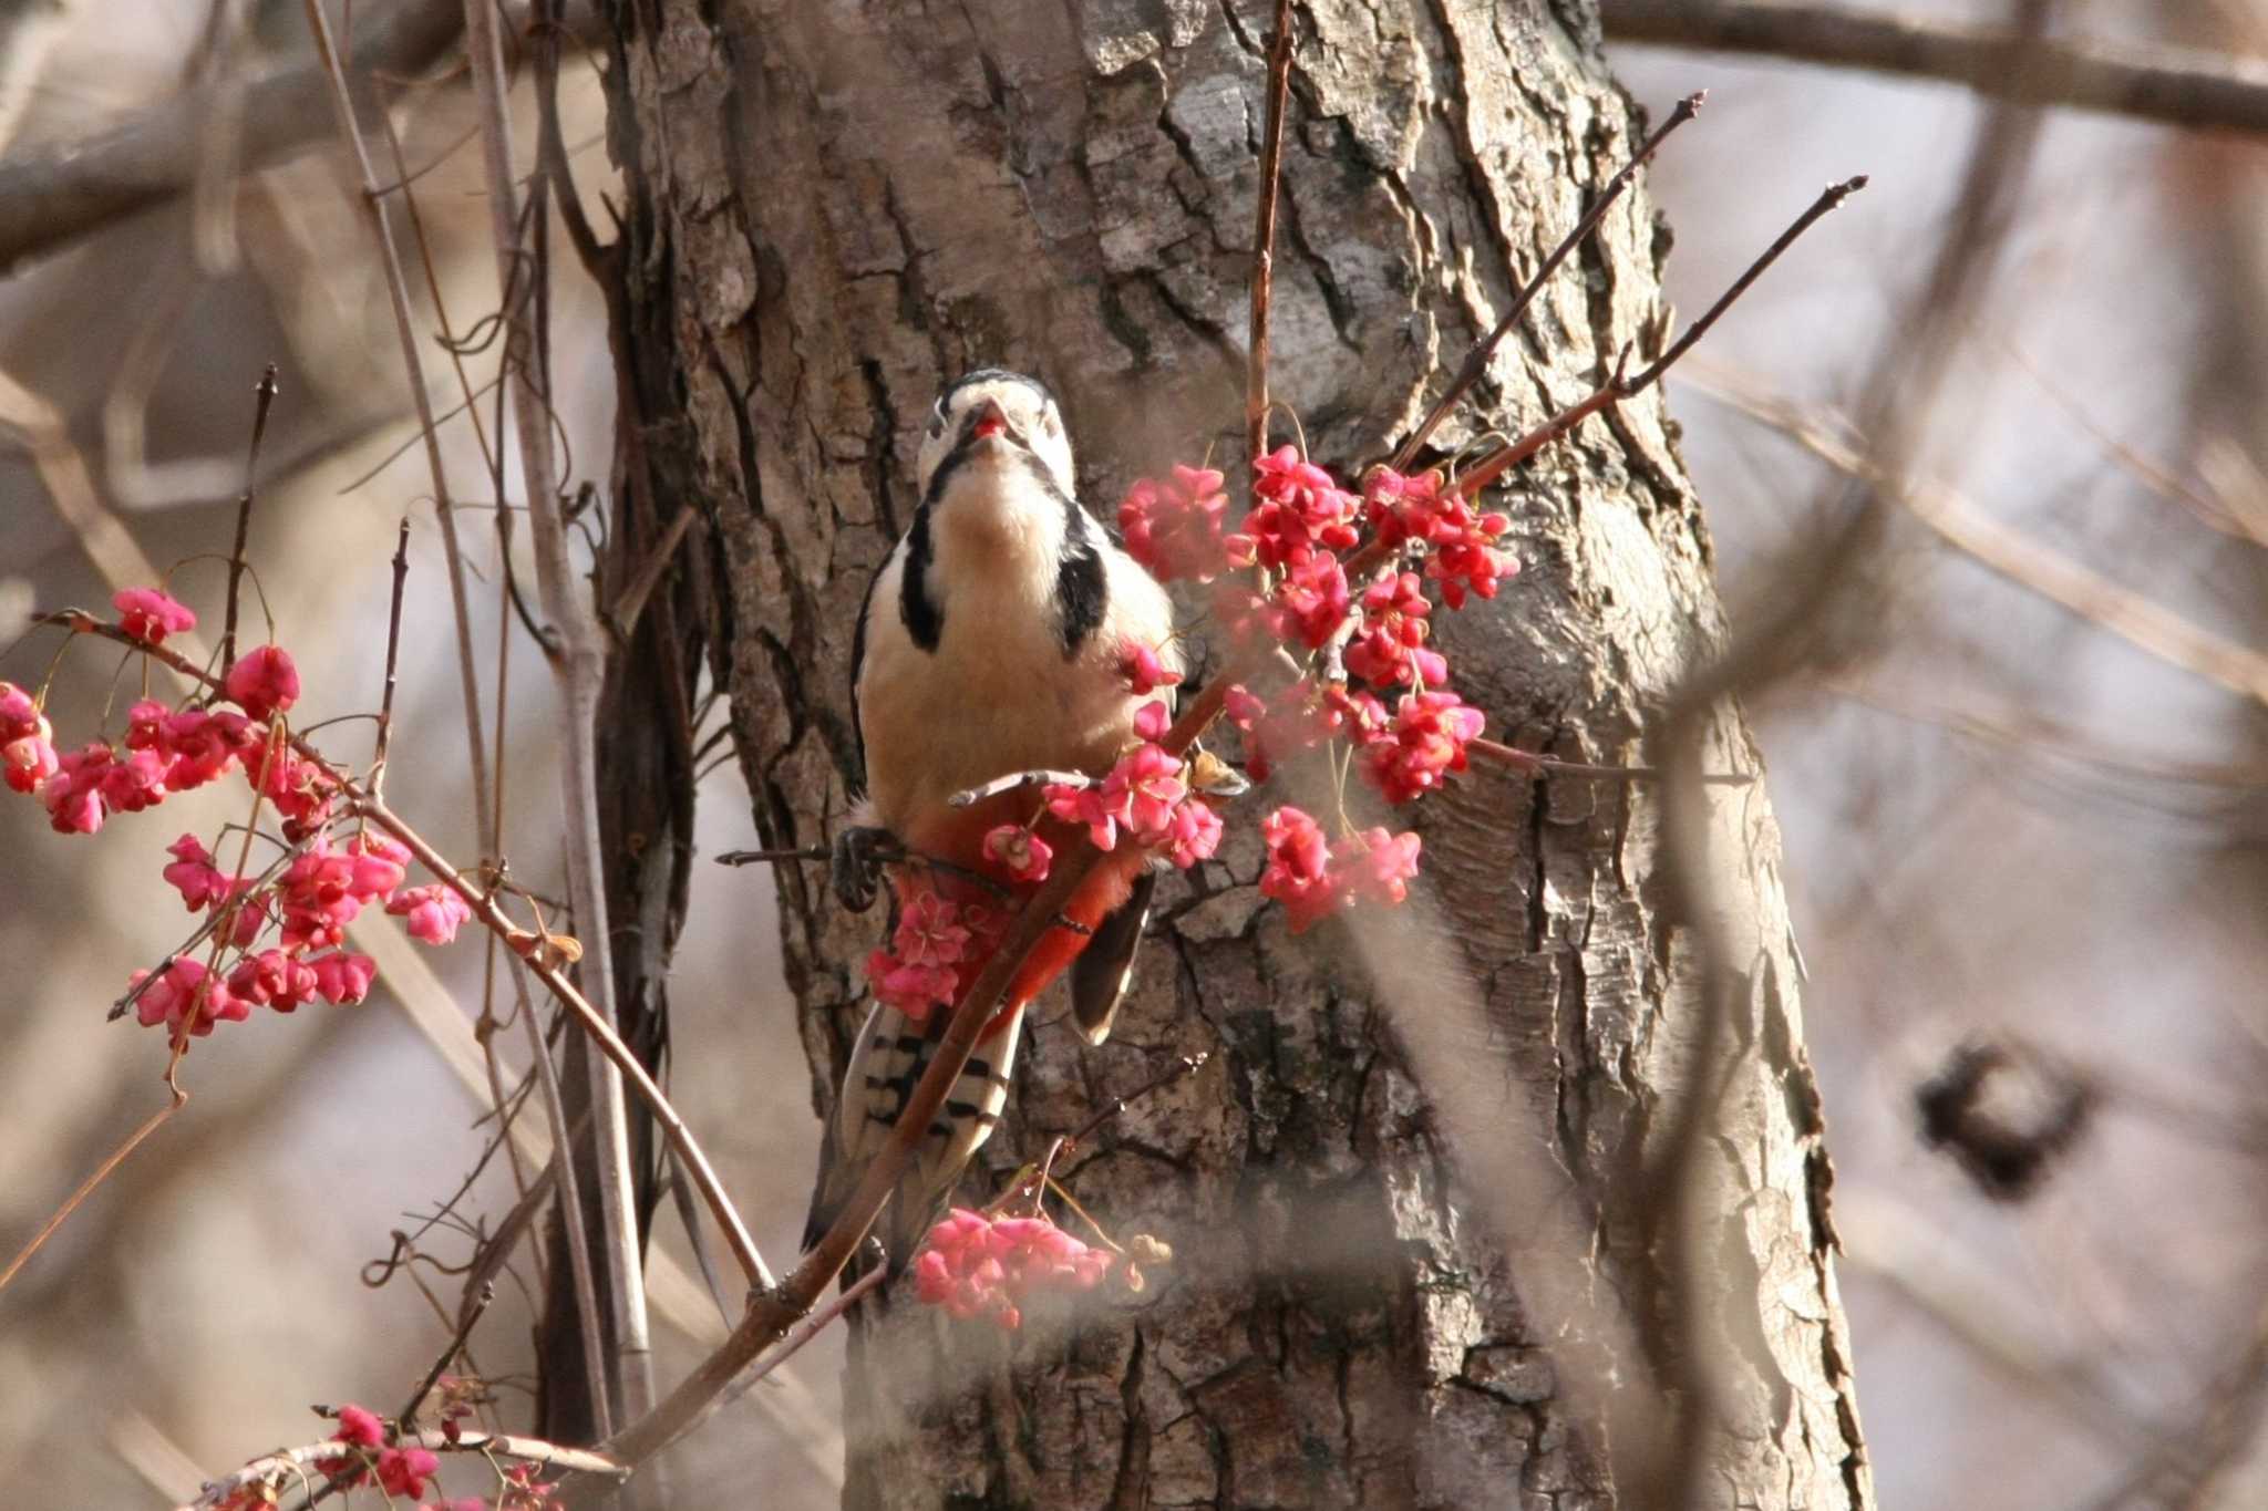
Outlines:
{"type": "MultiPolygon", "coordinates": [[[[147,646],[197,625],[193,612],[159,589],[125,589],[111,603],[120,630],[147,646]]],[[[0,682],[7,784],[39,797],[59,834],[95,834],[118,813],[141,813],[236,770],[277,811],[284,840],[295,847],[265,883],[218,861],[195,834],[168,847],[166,881],[191,913],[213,920],[211,961],[175,958],[154,979],[134,972],[136,1017],[166,1024],[175,1042],[243,1022],[252,1008],[290,1013],[318,997],[363,1001],[376,965],[345,949],[345,927],[365,906],[406,917],[411,936],[429,945],[447,945],[472,917],[447,886],[404,886],[411,861],[404,845],[372,831],[345,840],[333,834],[338,779],[293,750],[284,725],[299,700],[290,652],[247,650],[227,668],[222,695],[236,707],[166,707],[143,698],[127,709],[118,745],[88,741],[57,754],[39,702],[0,682]]]]}

